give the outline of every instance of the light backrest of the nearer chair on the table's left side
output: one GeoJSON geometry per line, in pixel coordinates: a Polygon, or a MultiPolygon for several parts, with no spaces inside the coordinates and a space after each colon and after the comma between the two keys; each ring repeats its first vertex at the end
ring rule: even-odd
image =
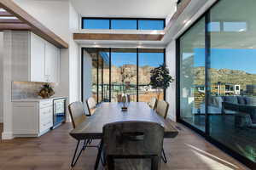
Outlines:
{"type": "Polygon", "coordinates": [[[82,102],[76,101],[68,105],[68,111],[71,116],[73,128],[79,126],[81,122],[86,120],[84,104],[82,102]]]}

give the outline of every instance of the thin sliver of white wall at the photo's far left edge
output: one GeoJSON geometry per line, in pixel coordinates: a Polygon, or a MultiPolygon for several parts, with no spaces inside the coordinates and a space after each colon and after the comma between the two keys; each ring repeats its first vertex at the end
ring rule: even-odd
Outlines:
{"type": "Polygon", "coordinates": [[[3,32],[0,31],[0,122],[3,122],[3,32]]]}

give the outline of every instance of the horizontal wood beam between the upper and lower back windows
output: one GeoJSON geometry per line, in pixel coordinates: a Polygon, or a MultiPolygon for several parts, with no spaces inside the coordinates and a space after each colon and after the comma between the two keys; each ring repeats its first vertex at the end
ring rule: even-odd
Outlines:
{"type": "Polygon", "coordinates": [[[160,41],[162,34],[74,33],[74,40],[160,41]]]}

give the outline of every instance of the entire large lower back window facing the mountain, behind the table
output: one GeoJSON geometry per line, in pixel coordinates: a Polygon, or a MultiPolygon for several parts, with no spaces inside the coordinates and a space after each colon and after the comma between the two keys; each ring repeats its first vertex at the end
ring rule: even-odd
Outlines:
{"type": "MultiPolygon", "coordinates": [[[[165,65],[164,49],[83,48],[82,61],[84,100],[93,96],[97,103],[116,102],[127,94],[131,101],[148,102],[158,97],[150,71],[165,65]]],[[[161,90],[160,99],[164,94],[161,90]]]]}

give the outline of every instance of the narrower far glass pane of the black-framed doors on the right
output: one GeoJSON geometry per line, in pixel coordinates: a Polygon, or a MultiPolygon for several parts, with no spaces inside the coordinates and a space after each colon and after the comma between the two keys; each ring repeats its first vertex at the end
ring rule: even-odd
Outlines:
{"type": "Polygon", "coordinates": [[[205,18],[180,37],[180,117],[205,131],[205,18]]]}

